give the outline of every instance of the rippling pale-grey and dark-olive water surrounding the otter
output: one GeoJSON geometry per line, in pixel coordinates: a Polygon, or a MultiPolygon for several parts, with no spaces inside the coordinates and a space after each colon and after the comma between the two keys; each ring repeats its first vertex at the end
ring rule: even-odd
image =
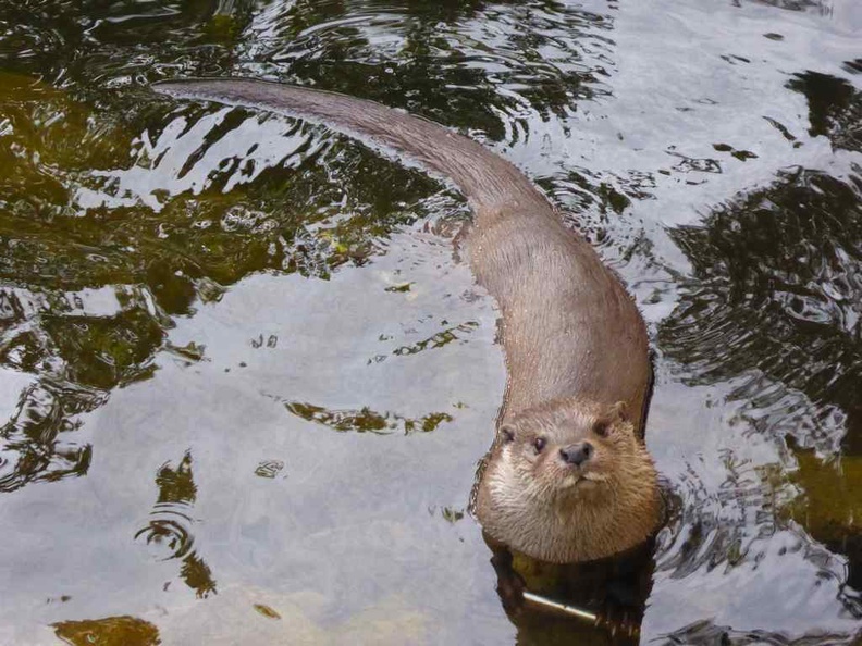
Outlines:
{"type": "Polygon", "coordinates": [[[862,639],[857,0],[0,0],[0,644],[596,644],[465,513],[504,385],[451,188],[148,84],[406,108],[627,281],[678,509],[644,644],[862,639]]]}

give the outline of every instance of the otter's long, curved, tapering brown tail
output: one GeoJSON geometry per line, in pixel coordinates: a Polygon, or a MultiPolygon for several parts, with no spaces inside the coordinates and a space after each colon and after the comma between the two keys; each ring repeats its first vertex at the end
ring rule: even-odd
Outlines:
{"type": "Polygon", "coordinates": [[[247,78],[189,78],[153,85],[159,92],[229,105],[261,108],[323,123],[394,149],[452,179],[477,211],[495,213],[547,201],[509,162],[480,144],[422,117],[336,92],[247,78]]]}

